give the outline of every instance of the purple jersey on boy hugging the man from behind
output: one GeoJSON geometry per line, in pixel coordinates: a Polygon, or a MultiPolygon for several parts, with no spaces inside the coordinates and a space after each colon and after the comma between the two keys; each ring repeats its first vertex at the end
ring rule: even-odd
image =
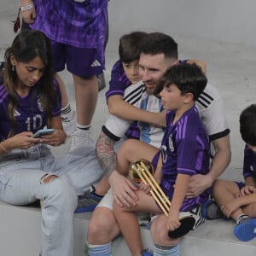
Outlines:
{"type": "MultiPolygon", "coordinates": [[[[111,79],[109,81],[109,90],[106,92],[106,98],[109,96],[120,95],[124,96],[125,89],[131,85],[131,81],[126,77],[125,71],[122,65],[122,61],[116,61],[113,64],[111,70],[111,79]]],[[[132,104],[132,102],[129,102],[132,104]]],[[[129,129],[125,132],[125,135],[129,138],[140,137],[140,130],[137,126],[137,122],[131,123],[129,129]]]]}

